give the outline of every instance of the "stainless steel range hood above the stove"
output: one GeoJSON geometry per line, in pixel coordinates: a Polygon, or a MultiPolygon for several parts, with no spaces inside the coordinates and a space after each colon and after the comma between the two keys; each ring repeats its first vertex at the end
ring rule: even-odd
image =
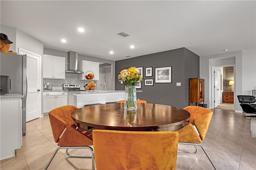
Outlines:
{"type": "Polygon", "coordinates": [[[68,51],[68,70],[66,72],[68,73],[76,73],[81,74],[84,73],[80,70],[78,70],[78,59],[77,59],[77,53],[74,51],[68,51]]]}

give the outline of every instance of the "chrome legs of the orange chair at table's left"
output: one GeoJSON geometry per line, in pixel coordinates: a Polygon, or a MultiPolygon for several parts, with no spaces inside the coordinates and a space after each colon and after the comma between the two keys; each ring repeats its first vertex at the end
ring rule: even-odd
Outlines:
{"type": "Polygon", "coordinates": [[[44,170],[47,170],[47,168],[49,167],[50,163],[52,162],[54,156],[56,155],[56,153],[58,152],[59,149],[66,149],[66,154],[70,157],[83,157],[83,158],[92,158],[92,170],[95,169],[94,166],[94,150],[92,149],[92,147],[86,146],[86,147],[58,147],[54,153],[52,154],[52,157],[50,158],[49,162],[47,163],[46,167],[44,168],[44,170]],[[90,149],[92,152],[92,156],[85,156],[85,155],[70,155],[68,153],[68,149],[82,149],[82,148],[86,148],[86,149],[90,149]]]}

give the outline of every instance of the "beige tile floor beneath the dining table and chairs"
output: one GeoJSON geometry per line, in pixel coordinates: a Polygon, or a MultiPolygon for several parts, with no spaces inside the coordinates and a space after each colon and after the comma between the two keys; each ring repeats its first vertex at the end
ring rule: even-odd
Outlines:
{"type": "MultiPolygon", "coordinates": [[[[202,145],[218,170],[256,170],[256,139],[251,138],[250,119],[232,110],[214,109],[214,114],[202,145]]],[[[42,170],[58,147],[54,142],[48,116],[27,123],[26,136],[16,156],[0,161],[1,170],[42,170]]],[[[179,146],[179,151],[193,150],[179,146]]],[[[90,154],[88,150],[71,153],[90,154]]],[[[90,158],[70,158],[60,150],[49,170],[90,170],[90,158]]],[[[178,155],[177,170],[212,170],[210,161],[198,147],[195,155],[178,155]]]]}

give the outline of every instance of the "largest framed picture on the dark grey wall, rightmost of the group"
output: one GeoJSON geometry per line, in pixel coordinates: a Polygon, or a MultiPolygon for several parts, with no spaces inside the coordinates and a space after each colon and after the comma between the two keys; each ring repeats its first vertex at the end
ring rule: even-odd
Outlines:
{"type": "Polygon", "coordinates": [[[155,83],[172,83],[172,66],[155,68],[155,83]]]}

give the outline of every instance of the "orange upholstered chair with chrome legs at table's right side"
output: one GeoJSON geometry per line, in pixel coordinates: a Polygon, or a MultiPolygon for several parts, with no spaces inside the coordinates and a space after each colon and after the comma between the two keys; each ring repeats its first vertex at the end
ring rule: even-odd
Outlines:
{"type": "Polygon", "coordinates": [[[217,169],[212,159],[210,158],[209,154],[204,149],[203,145],[200,144],[204,140],[204,137],[207,133],[207,130],[212,118],[212,111],[199,106],[187,106],[184,109],[190,113],[190,120],[189,120],[189,123],[187,123],[184,128],[178,130],[178,133],[179,133],[178,144],[194,145],[194,147],[196,148],[196,151],[194,153],[178,153],[178,154],[188,154],[188,155],[196,154],[197,152],[196,145],[200,146],[203,149],[206,156],[208,157],[208,159],[210,160],[214,169],[217,169]]]}

